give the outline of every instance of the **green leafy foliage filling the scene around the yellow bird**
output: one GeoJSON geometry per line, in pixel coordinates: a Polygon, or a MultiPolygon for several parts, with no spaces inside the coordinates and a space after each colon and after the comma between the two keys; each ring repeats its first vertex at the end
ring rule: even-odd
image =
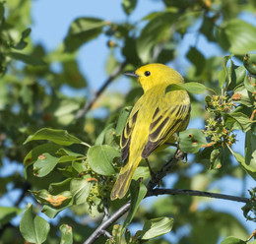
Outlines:
{"type": "MultiPolygon", "coordinates": [[[[0,176],[0,196],[11,202],[0,208],[0,243],[24,243],[23,238],[32,243],[84,243],[100,224],[102,214],[106,220],[107,211],[112,216],[129,200],[128,215],[120,219],[121,224],[107,229],[112,238],[106,235],[98,243],[149,240],[167,244],[169,239],[162,235],[169,231],[176,243],[215,244],[220,239],[224,244],[248,243],[245,221],[204,206],[202,198],[160,197],[146,208],[143,199],[148,198],[150,171],[145,161],[134,174],[130,194],[110,202],[122,166],[120,136],[132,105],[142,94],[137,83],[131,82],[130,91],[103,92],[93,104],[92,110],[99,108],[96,113],[77,116],[92,97],[77,54],[84,44],[103,36],[109,48],[105,59],[109,76],[121,62],[125,64],[113,78],[152,62],[171,62],[184,76],[184,85],[171,85],[165,92],[188,91],[191,120],[204,122],[205,127],[175,135],[179,150],[195,156],[172,168],[171,173],[178,176],[174,188],[209,191],[225,176],[240,181],[247,176],[256,179],[256,55],[251,53],[255,51],[256,28],[239,19],[241,13],[255,12],[254,1],[160,2],[161,11],[140,16],[136,23],[136,0],[119,3],[129,17],[125,22],[80,17],[66,27],[66,37],[53,50],[32,41],[31,1],[0,2],[0,167],[19,165],[9,176],[0,176]],[[197,39],[185,48],[189,61],[185,66],[177,59],[179,43],[191,30],[197,39]],[[202,36],[229,55],[210,57],[208,50],[199,46],[202,36]],[[55,64],[58,72],[52,68],[55,64]],[[85,95],[70,97],[63,88],[85,95]],[[245,135],[244,145],[237,142],[237,131],[245,135]],[[244,154],[234,152],[232,145],[237,143],[244,154]],[[200,169],[194,170],[196,163],[200,169]],[[16,171],[22,164],[24,174],[16,171]],[[20,199],[10,201],[13,195],[9,194],[17,190],[20,199]],[[12,220],[28,201],[40,205],[23,213],[19,229],[12,220]],[[54,224],[35,212],[54,218],[54,224]],[[132,236],[129,228],[138,231],[132,236]],[[180,234],[182,229],[190,231],[180,234]]],[[[151,154],[155,173],[173,152],[151,154]]],[[[165,188],[165,181],[159,184],[165,188]]],[[[244,220],[255,222],[255,189],[249,193],[242,211],[244,220]]]]}

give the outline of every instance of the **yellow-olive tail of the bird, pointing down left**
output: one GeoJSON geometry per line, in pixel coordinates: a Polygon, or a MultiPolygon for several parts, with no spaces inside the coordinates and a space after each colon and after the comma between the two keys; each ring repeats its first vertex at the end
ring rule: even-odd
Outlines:
{"type": "Polygon", "coordinates": [[[140,160],[136,163],[131,163],[128,161],[122,168],[119,173],[119,176],[114,184],[114,187],[111,191],[110,199],[113,201],[117,198],[122,199],[131,184],[133,174],[138,167],[140,160]]]}

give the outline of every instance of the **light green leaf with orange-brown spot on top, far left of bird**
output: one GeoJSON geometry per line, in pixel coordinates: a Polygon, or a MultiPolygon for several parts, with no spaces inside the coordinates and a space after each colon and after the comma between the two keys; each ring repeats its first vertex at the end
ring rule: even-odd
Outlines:
{"type": "Polygon", "coordinates": [[[43,177],[50,173],[57,165],[59,158],[45,152],[38,156],[33,163],[33,174],[37,177],[43,177]]]}

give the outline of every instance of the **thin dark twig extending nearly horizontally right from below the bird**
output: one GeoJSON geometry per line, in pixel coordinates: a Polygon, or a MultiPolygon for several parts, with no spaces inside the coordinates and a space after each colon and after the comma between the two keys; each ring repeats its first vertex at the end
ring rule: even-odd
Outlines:
{"type": "Polygon", "coordinates": [[[249,201],[249,199],[247,199],[247,198],[230,196],[230,195],[225,195],[225,194],[220,194],[220,193],[201,192],[201,191],[183,190],[183,189],[160,189],[160,188],[156,188],[156,189],[151,191],[150,196],[159,196],[159,195],[165,195],[165,194],[216,198],[216,199],[224,199],[224,200],[235,201],[235,202],[240,202],[240,203],[247,203],[249,201]]]}

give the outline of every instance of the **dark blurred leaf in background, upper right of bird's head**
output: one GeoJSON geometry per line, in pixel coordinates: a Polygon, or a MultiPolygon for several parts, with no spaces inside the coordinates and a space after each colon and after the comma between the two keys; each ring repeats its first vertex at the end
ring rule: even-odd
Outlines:
{"type": "Polygon", "coordinates": [[[199,76],[205,68],[206,59],[195,47],[190,47],[187,53],[188,60],[196,67],[196,76],[199,76]]]}

